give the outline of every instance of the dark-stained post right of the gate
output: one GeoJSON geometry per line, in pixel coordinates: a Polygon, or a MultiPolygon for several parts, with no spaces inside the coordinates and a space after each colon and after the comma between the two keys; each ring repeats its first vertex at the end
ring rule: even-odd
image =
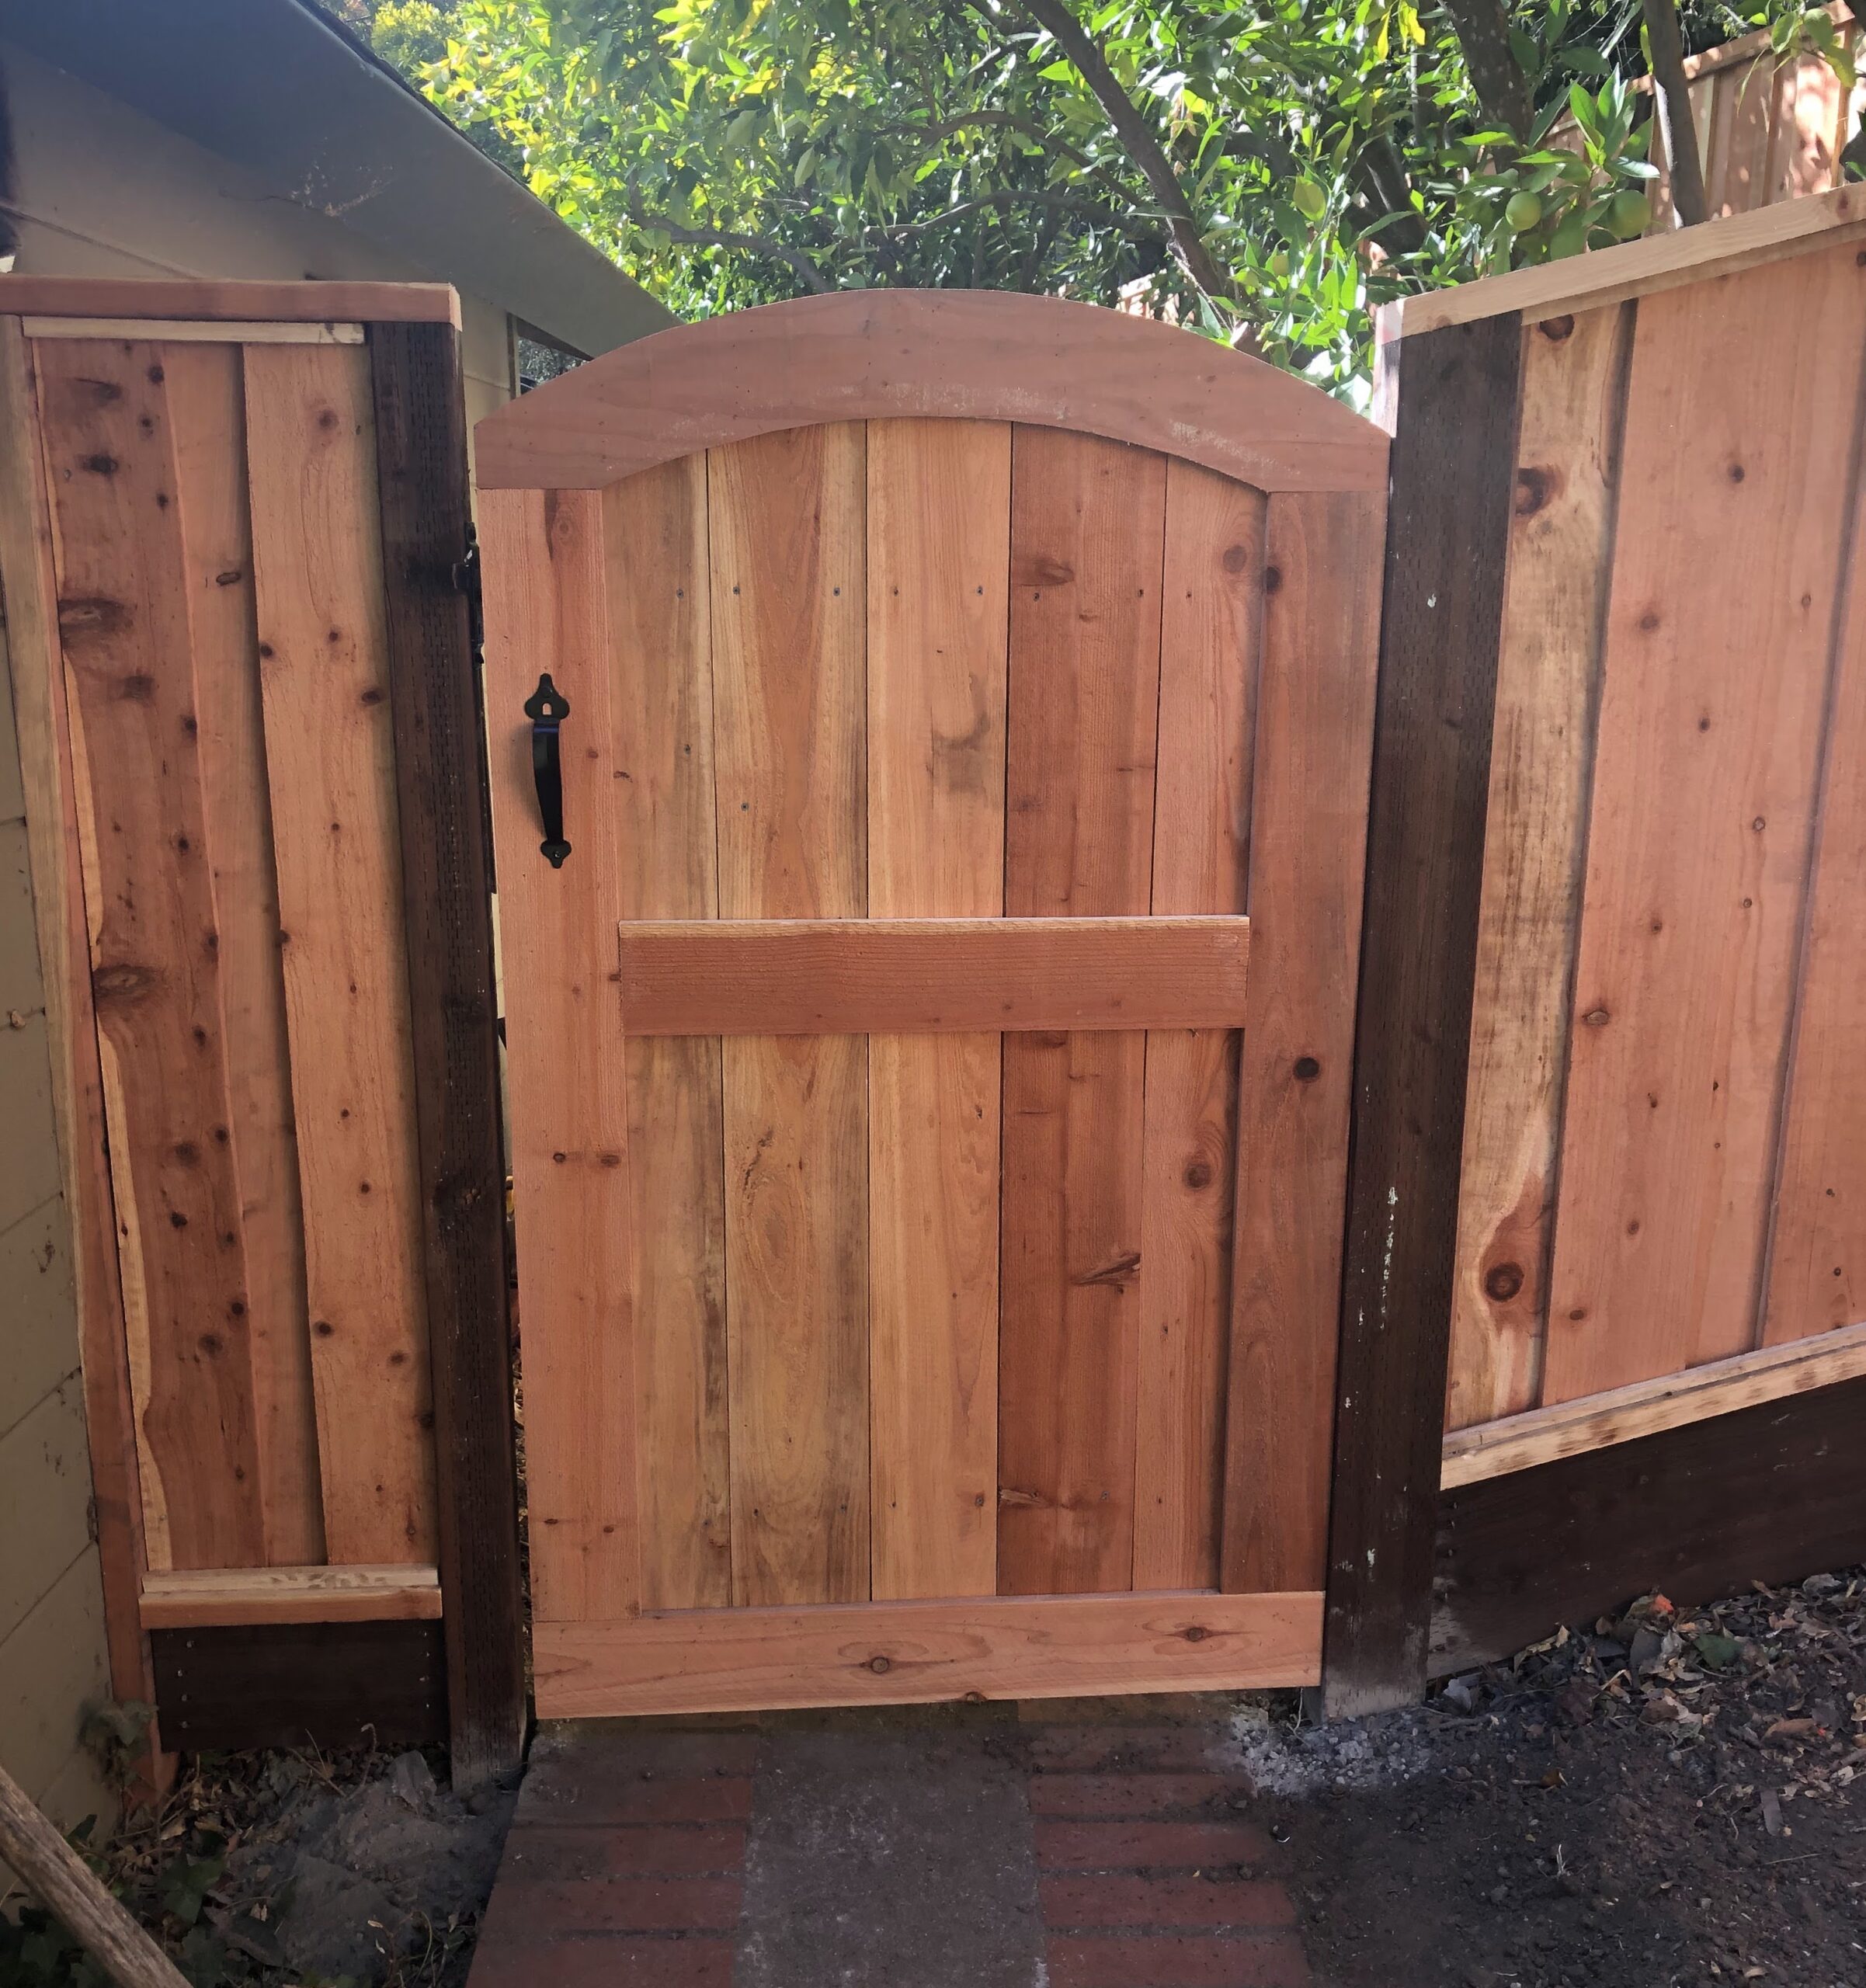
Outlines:
{"type": "Polygon", "coordinates": [[[1425,1690],[1522,324],[1393,354],[1323,1704],[1425,1690]]]}

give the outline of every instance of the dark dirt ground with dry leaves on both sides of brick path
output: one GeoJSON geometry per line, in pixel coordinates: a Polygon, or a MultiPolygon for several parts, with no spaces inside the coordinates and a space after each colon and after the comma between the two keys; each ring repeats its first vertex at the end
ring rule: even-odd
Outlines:
{"type": "MultiPolygon", "coordinates": [[[[1041,1732],[954,1712],[1002,1714],[994,1759],[1041,1732]]],[[[1647,1596],[1351,1726],[1288,1694],[1103,1716],[1210,1730],[1320,1988],[1866,1984],[1866,1571],[1683,1614],[1647,1596]]],[[[205,1757],[99,1865],[201,1988],[457,1988],[513,1797],[459,1803],[437,1769],[205,1757]]],[[[0,1932],[0,1988],[93,1978],[0,1932]]]]}

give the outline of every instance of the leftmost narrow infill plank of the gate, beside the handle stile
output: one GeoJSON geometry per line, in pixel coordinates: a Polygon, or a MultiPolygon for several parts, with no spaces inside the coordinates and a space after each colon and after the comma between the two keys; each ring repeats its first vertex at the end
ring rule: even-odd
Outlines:
{"type": "MultiPolygon", "coordinates": [[[[705,457],[602,495],[624,918],[711,918],[713,656],[705,457]]],[[[582,716],[572,710],[572,722],[582,716]]],[[[521,871],[521,877],[525,873],[521,871]]],[[[634,1374],[646,1608],[731,1600],[725,1360],[725,1129],[719,1044],[630,1040],[634,1374]]]]}

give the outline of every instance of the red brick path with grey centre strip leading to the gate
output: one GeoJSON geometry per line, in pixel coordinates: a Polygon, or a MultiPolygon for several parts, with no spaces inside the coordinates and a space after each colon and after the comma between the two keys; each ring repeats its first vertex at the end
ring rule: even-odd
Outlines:
{"type": "Polygon", "coordinates": [[[1308,1988],[1220,1740],[552,1728],[471,1988],[1308,1988]]]}

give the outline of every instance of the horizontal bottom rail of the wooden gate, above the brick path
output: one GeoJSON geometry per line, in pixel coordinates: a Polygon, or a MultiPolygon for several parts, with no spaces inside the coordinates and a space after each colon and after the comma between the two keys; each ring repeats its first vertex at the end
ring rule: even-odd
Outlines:
{"type": "Polygon", "coordinates": [[[539,1716],[1314,1684],[1322,1594],[1043,1594],[543,1624],[539,1716]]]}

